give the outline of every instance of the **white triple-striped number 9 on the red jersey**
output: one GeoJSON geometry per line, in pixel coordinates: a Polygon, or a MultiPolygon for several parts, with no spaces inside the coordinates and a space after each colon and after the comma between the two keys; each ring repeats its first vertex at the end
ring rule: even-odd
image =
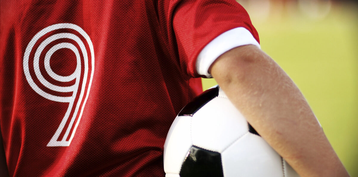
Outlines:
{"type": "Polygon", "coordinates": [[[23,61],[23,67],[24,67],[24,73],[26,76],[26,80],[28,81],[29,85],[32,87],[32,89],[37,92],[39,95],[43,96],[44,98],[47,98],[48,100],[52,100],[52,101],[56,101],[56,102],[68,102],[68,109],[59,125],[59,127],[57,128],[55,134],[52,136],[51,140],[48,142],[47,146],[69,146],[73,136],[76,132],[76,129],[78,127],[79,121],[81,120],[82,117],[82,113],[83,113],[83,109],[84,106],[87,102],[87,98],[89,95],[89,90],[91,88],[92,85],[92,79],[93,79],[93,73],[94,73],[94,68],[95,68],[95,54],[94,54],[94,50],[93,50],[93,44],[91,39],[89,38],[88,34],[79,26],[74,25],[74,24],[70,24],[70,23],[61,23],[61,24],[55,24],[55,25],[51,25],[48,26],[44,29],[42,29],[41,31],[39,31],[33,38],[32,40],[29,42],[28,46],[26,47],[25,53],[24,53],[24,61],[23,61]],[[81,34],[84,39],[87,41],[87,44],[89,46],[89,50],[91,52],[91,76],[89,78],[89,83],[88,83],[88,88],[87,88],[87,93],[86,96],[84,98],[83,101],[83,105],[81,107],[81,111],[79,113],[78,116],[78,120],[76,122],[76,125],[73,128],[72,134],[69,138],[68,141],[66,141],[69,132],[71,131],[71,128],[73,126],[73,122],[75,121],[77,115],[78,115],[78,110],[79,110],[79,106],[81,105],[83,96],[84,96],[84,91],[86,90],[86,83],[87,83],[87,77],[88,77],[88,55],[87,55],[87,50],[86,47],[84,46],[82,40],[71,33],[59,33],[59,34],[54,34],[50,37],[48,37],[47,39],[45,39],[37,48],[36,52],[35,52],[35,56],[34,56],[34,71],[35,71],[35,75],[37,76],[37,78],[39,79],[39,81],[47,88],[54,90],[54,91],[58,91],[58,92],[73,92],[72,96],[70,97],[61,97],[61,96],[55,96],[55,95],[51,95],[49,93],[44,92],[43,90],[41,90],[33,81],[31,75],[30,75],[30,70],[29,70],[29,57],[30,57],[30,53],[35,45],[35,43],[45,34],[47,34],[48,32],[54,31],[54,30],[58,30],[58,29],[72,29],[77,31],[79,34],[81,34]],[[57,81],[61,81],[61,82],[67,82],[67,81],[71,81],[73,79],[76,79],[76,83],[72,86],[68,86],[68,87],[61,87],[61,86],[55,86],[51,83],[49,83],[48,81],[46,81],[44,79],[44,77],[41,75],[41,72],[39,70],[39,56],[41,54],[41,52],[43,51],[43,49],[45,48],[45,46],[47,46],[50,42],[57,40],[57,39],[62,39],[62,38],[67,38],[67,39],[72,39],[74,41],[77,42],[77,44],[79,45],[79,48],[82,51],[83,54],[83,59],[84,59],[84,76],[83,76],[83,81],[82,81],[82,86],[81,86],[81,92],[77,101],[77,105],[76,108],[74,110],[73,116],[71,118],[71,121],[69,122],[69,125],[67,127],[66,133],[64,134],[63,138],[61,141],[57,141],[57,139],[59,138],[61,132],[63,131],[63,128],[68,120],[68,117],[71,113],[71,110],[73,108],[73,104],[74,104],[74,100],[76,98],[77,95],[77,90],[78,90],[78,86],[79,86],[79,80],[80,80],[80,76],[81,76],[81,60],[79,57],[79,52],[78,49],[70,43],[67,42],[62,42],[59,43],[55,46],[53,46],[45,55],[45,70],[48,72],[48,74],[55,80],[57,81]],[[49,60],[50,60],[50,56],[59,49],[63,49],[63,48],[67,48],[72,50],[75,55],[76,55],[76,61],[77,61],[77,66],[76,66],[76,70],[74,71],[73,74],[69,75],[69,76],[59,76],[57,74],[55,74],[49,64],[49,60]]]}

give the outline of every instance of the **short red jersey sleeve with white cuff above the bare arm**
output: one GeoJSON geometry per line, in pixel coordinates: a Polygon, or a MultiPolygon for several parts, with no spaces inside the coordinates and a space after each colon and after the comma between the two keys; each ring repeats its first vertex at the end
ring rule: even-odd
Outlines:
{"type": "MultiPolygon", "coordinates": [[[[238,4],[235,0],[201,0],[201,1],[180,1],[176,4],[173,14],[173,29],[175,33],[176,42],[178,45],[178,52],[180,57],[180,65],[183,70],[186,70],[187,74],[192,77],[211,77],[210,74],[205,72],[197,72],[197,58],[200,52],[211,41],[218,36],[224,34],[224,32],[242,27],[249,33],[235,34],[236,32],[229,32],[229,34],[236,35],[222,38],[223,40],[247,40],[250,38],[250,34],[253,39],[256,40],[257,45],[260,43],[258,33],[253,27],[250,17],[246,10],[238,4]],[[241,37],[240,37],[241,36],[241,37]],[[246,37],[242,37],[246,36],[246,37]],[[247,37],[248,36],[248,37],[247,37]]],[[[246,31],[242,30],[242,31],[246,31]]],[[[227,33],[226,33],[227,34],[227,33]]],[[[219,38],[221,39],[221,38],[219,38]]],[[[226,42],[213,42],[214,47],[209,47],[209,52],[205,55],[211,55],[212,49],[224,49],[230,45],[226,45],[226,42]]],[[[245,41],[234,41],[227,43],[243,44],[245,41]]],[[[247,41],[246,41],[247,43],[247,41]]],[[[249,42],[255,43],[252,40],[249,42]]],[[[236,46],[240,46],[237,45],[236,46]]],[[[243,44],[246,45],[246,44],[243,44]]],[[[212,46],[212,45],[211,45],[212,46]]],[[[234,46],[234,47],[236,47],[234,46]]],[[[221,55],[223,50],[219,50],[215,55],[221,55]],[[219,54],[221,53],[221,54],[219,54]]],[[[214,52],[215,53],[215,52],[214,52]]],[[[210,64],[218,57],[211,56],[211,59],[203,58],[201,60],[208,60],[210,64]],[[211,60],[211,61],[210,61],[211,60]]],[[[200,63],[202,63],[200,61],[200,63]]],[[[205,67],[204,67],[205,68],[205,67]]]]}

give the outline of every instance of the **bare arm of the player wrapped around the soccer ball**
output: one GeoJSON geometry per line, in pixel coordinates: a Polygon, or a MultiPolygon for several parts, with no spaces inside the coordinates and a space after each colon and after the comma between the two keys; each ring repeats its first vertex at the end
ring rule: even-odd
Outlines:
{"type": "Polygon", "coordinates": [[[300,176],[349,176],[300,90],[258,47],[246,45],[225,52],[209,72],[300,176]]]}

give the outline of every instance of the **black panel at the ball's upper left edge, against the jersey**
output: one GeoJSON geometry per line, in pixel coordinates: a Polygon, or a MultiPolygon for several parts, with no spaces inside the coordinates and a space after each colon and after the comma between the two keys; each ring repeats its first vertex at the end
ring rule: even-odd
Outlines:
{"type": "Polygon", "coordinates": [[[195,97],[179,112],[178,116],[193,116],[200,108],[202,108],[210,100],[219,95],[219,86],[205,90],[202,94],[195,97]]]}

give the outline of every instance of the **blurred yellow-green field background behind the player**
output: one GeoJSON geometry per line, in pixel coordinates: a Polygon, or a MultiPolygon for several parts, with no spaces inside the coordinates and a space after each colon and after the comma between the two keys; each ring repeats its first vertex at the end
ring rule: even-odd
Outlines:
{"type": "MultiPolygon", "coordinates": [[[[291,77],[352,177],[358,177],[358,2],[237,0],[261,49],[291,77]]],[[[216,82],[203,79],[206,90],[216,82]]]]}

